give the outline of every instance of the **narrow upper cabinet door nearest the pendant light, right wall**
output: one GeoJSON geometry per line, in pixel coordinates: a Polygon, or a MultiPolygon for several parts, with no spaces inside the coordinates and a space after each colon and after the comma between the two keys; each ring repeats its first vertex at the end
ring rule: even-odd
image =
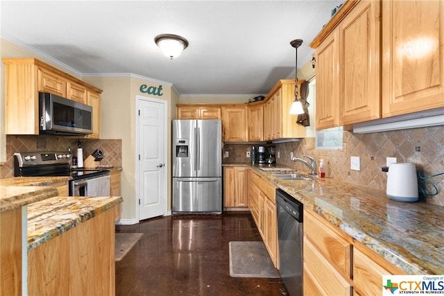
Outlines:
{"type": "Polygon", "coordinates": [[[339,126],[339,31],[316,49],[316,130],[339,126]]]}

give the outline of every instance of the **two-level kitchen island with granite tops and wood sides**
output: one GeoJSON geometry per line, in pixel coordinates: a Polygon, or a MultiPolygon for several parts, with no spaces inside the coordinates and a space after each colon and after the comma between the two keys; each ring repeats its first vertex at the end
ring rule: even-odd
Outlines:
{"type": "Polygon", "coordinates": [[[57,196],[60,181],[0,180],[1,295],[114,295],[109,210],[122,198],[57,196]]]}

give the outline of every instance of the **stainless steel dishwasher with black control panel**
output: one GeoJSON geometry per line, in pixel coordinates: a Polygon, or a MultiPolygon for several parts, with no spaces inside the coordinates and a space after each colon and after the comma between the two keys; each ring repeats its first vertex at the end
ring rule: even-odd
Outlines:
{"type": "Polygon", "coordinates": [[[280,276],[290,296],[302,296],[303,205],[276,189],[280,276]]]}

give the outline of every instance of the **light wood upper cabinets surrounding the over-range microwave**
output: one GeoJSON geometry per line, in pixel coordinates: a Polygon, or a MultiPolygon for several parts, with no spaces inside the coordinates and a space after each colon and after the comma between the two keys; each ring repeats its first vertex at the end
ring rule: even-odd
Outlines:
{"type": "MultiPolygon", "coordinates": [[[[87,92],[100,98],[101,89],[70,76],[34,58],[3,58],[6,65],[5,132],[39,134],[39,92],[49,92],[89,105],[87,92]]],[[[100,130],[100,101],[92,103],[95,129],[100,130]],[[99,105],[97,105],[99,104],[99,105]]],[[[94,136],[99,137],[99,132],[94,136]]]]}

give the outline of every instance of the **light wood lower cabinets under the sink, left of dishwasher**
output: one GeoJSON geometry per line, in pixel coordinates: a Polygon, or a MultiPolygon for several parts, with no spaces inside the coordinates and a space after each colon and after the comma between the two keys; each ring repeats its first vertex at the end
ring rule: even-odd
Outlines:
{"type": "Polygon", "coordinates": [[[275,189],[275,185],[257,175],[252,169],[248,170],[248,207],[271,261],[279,268],[275,189]]]}

